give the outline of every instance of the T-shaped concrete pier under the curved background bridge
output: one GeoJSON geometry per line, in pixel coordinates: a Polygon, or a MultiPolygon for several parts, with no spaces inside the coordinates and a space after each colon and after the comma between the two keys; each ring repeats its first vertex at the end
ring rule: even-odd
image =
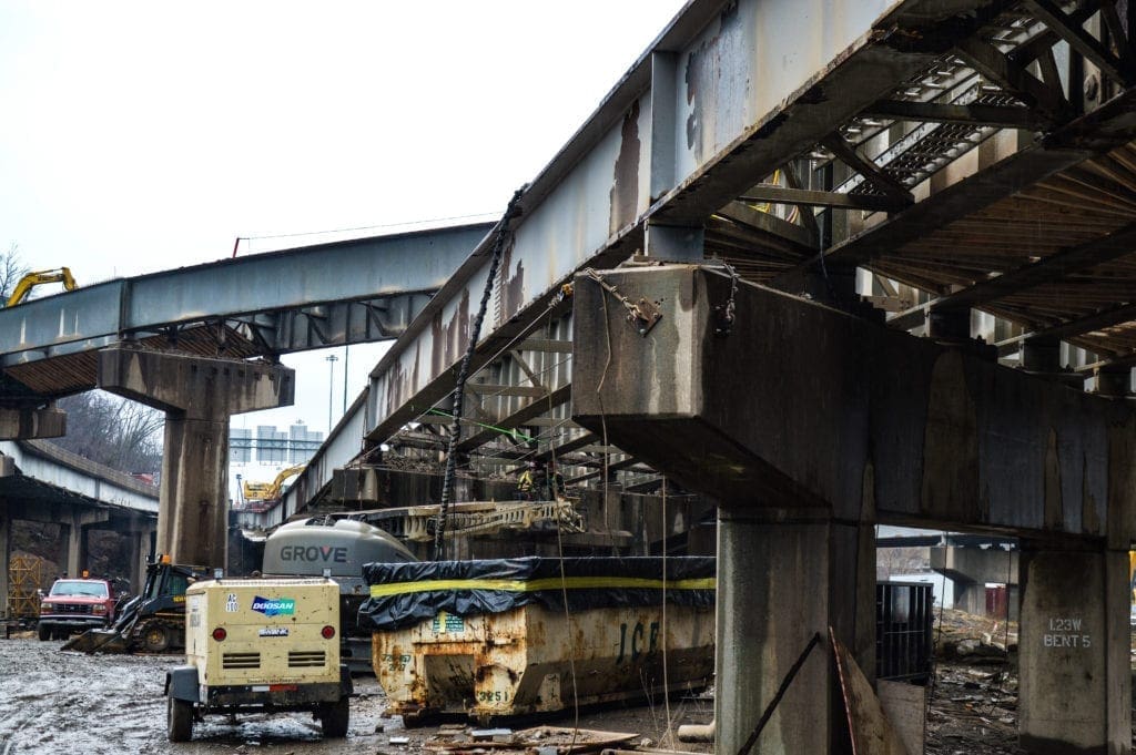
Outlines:
{"type": "Polygon", "coordinates": [[[293,370],[115,346],[99,352],[99,387],[166,412],[158,552],[224,567],[228,542],[228,418],[286,406],[293,370]]]}

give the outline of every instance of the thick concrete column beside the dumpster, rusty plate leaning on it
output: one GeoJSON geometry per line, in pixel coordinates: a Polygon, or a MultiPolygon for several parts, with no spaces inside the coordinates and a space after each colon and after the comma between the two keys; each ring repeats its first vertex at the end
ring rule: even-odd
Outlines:
{"type": "Polygon", "coordinates": [[[716,750],[736,753],[815,634],[753,753],[840,753],[847,729],[828,628],[875,677],[871,527],[827,510],[718,512],[716,750]]]}

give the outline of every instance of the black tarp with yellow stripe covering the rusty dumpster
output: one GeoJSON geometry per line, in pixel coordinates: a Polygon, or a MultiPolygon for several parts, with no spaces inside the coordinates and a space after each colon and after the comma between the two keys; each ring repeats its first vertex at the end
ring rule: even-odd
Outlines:
{"type": "Polygon", "coordinates": [[[668,604],[713,606],[715,560],[708,556],[368,563],[362,577],[370,597],[359,607],[359,627],[403,629],[441,611],[476,616],[531,604],[554,611],[661,605],[663,562],[668,604]]]}

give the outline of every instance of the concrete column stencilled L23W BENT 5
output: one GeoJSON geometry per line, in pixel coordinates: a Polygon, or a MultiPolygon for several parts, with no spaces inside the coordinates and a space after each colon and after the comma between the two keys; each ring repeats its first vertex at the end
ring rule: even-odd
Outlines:
{"type": "Polygon", "coordinates": [[[1020,579],[1022,748],[1130,753],[1127,552],[1022,544],[1020,579]]]}

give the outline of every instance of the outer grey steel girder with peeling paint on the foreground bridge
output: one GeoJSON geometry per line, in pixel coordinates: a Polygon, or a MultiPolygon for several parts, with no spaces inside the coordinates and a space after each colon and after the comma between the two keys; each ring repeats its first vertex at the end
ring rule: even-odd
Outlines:
{"type": "MultiPolygon", "coordinates": [[[[822,28],[803,36],[782,31],[799,18],[796,0],[694,0],[671,22],[525,191],[475,369],[534,335],[575,270],[644,249],[649,223],[701,228],[1009,3],[828,5],[822,28]]],[[[373,371],[370,444],[452,386],[490,248],[483,242],[373,371]]]]}

